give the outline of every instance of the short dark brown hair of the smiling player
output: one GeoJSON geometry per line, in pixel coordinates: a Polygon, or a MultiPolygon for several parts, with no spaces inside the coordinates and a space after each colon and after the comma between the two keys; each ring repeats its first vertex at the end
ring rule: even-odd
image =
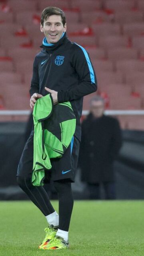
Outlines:
{"type": "Polygon", "coordinates": [[[51,15],[60,15],[62,17],[62,24],[63,26],[65,25],[66,17],[63,10],[61,10],[58,7],[48,6],[42,11],[41,20],[40,20],[40,23],[42,24],[42,26],[44,25],[44,21],[46,21],[46,19],[51,15]]]}

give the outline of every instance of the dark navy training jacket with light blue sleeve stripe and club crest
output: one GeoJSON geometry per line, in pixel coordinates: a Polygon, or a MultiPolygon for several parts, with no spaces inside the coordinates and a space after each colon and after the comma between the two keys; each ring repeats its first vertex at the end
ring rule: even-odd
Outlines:
{"type": "Polygon", "coordinates": [[[43,40],[42,51],[34,59],[30,95],[58,91],[58,103],[70,101],[76,116],[75,136],[80,140],[83,96],[97,89],[96,75],[86,50],[71,42],[66,33],[55,44],[43,40]]]}

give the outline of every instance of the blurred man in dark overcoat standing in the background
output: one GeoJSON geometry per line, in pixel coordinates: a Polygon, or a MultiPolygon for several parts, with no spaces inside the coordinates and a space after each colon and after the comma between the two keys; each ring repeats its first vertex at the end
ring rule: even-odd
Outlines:
{"type": "Polygon", "coordinates": [[[100,199],[100,184],[105,198],[115,198],[113,163],[122,145],[119,122],[104,115],[104,100],[96,96],[90,114],[82,123],[80,168],[82,181],[88,184],[90,199],[100,199]]]}

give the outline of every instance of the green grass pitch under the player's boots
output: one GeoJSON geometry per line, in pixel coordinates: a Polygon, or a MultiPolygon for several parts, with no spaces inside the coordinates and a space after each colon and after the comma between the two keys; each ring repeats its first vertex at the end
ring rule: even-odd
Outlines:
{"type": "Polygon", "coordinates": [[[46,226],[32,202],[0,202],[0,256],[144,256],[144,201],[75,201],[69,250],[38,250],[46,226]]]}

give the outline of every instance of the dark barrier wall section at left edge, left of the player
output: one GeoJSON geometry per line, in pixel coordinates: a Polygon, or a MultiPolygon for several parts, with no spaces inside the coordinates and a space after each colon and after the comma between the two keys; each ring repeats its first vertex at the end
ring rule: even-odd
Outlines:
{"type": "Polygon", "coordinates": [[[24,148],[26,123],[0,123],[0,187],[16,185],[17,167],[24,148]]]}

